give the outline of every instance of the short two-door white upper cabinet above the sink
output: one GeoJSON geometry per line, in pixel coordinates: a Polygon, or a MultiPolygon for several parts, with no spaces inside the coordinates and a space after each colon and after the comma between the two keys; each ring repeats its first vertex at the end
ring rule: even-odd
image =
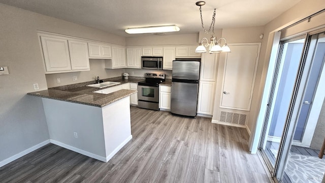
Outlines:
{"type": "Polygon", "coordinates": [[[88,49],[90,58],[112,58],[110,45],[88,43],[88,49]]]}

